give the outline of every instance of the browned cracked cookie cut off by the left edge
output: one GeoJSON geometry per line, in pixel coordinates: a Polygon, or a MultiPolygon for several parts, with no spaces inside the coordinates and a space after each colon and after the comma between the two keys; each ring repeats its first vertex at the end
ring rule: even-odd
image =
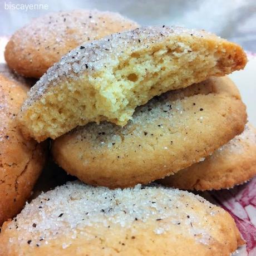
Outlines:
{"type": "Polygon", "coordinates": [[[26,97],[24,84],[0,74],[0,227],[23,208],[46,159],[46,143],[24,139],[17,126],[26,97]]]}

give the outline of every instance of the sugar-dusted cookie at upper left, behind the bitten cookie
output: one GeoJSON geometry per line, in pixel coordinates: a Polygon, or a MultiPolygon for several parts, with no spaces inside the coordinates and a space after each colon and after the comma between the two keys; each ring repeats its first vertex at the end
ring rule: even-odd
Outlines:
{"type": "Polygon", "coordinates": [[[81,43],[137,27],[136,22],[114,12],[80,9],[50,13],[18,29],[7,43],[4,57],[20,75],[40,78],[81,43]]]}

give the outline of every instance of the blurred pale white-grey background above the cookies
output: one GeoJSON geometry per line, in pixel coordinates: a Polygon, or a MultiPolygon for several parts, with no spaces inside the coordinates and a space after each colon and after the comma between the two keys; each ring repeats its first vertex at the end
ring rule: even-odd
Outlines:
{"type": "Polygon", "coordinates": [[[47,12],[97,8],[120,12],[141,25],[204,28],[256,52],[256,0],[0,0],[0,36],[11,35],[47,12]],[[47,10],[7,10],[6,4],[47,4],[47,10]]]}

